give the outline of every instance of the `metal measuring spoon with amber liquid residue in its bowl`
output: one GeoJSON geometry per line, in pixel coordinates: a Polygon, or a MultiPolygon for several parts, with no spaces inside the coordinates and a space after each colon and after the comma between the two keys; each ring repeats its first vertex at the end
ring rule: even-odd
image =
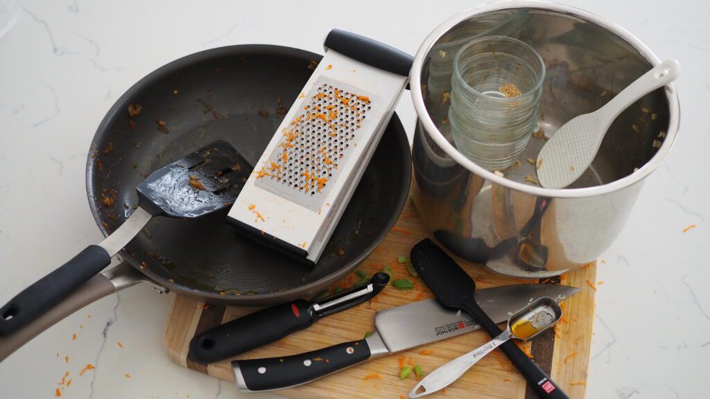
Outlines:
{"type": "Polygon", "coordinates": [[[449,363],[429,373],[426,378],[417,383],[409,393],[409,397],[421,398],[446,388],[463,376],[471,366],[474,366],[484,356],[501,346],[508,339],[515,338],[521,341],[528,341],[545,331],[545,329],[557,324],[561,317],[562,309],[551,297],[541,297],[535,302],[531,302],[530,305],[518,310],[518,312],[508,318],[506,331],[491,339],[488,343],[449,361],[449,363]]]}

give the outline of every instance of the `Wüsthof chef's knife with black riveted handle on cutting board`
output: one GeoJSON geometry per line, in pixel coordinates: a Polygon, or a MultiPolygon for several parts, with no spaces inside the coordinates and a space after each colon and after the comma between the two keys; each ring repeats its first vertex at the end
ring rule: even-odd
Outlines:
{"type": "MultiPolygon", "coordinates": [[[[579,292],[565,285],[520,284],[487,288],[476,301],[497,322],[540,297],[560,302],[579,292]]],[[[243,392],[290,388],[368,359],[456,337],[480,327],[466,312],[450,310],[437,300],[422,300],[381,310],[375,315],[375,332],[365,339],[345,342],[303,354],[231,363],[236,386],[243,392]]]]}

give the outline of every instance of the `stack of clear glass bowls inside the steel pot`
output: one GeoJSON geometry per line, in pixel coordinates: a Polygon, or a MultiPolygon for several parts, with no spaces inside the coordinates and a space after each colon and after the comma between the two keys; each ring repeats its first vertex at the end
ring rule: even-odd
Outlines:
{"type": "Polygon", "coordinates": [[[449,122],[459,152],[488,170],[515,163],[540,114],[545,63],[529,45],[486,36],[454,58],[449,122]]]}

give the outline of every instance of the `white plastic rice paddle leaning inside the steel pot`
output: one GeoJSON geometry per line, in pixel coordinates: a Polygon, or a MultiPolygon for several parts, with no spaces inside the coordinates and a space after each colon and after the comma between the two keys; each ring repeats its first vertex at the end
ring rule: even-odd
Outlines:
{"type": "Polygon", "coordinates": [[[537,180],[545,188],[564,188],[589,168],[616,116],[636,100],[675,80],[677,60],[666,60],[629,84],[606,105],[579,115],[557,130],[537,155],[537,180]]]}

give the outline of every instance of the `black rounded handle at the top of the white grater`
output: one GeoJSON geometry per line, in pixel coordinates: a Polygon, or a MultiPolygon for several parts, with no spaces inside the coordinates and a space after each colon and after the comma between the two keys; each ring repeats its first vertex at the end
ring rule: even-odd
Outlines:
{"type": "Polygon", "coordinates": [[[390,45],[340,29],[330,31],[323,46],[353,60],[402,76],[409,76],[414,62],[414,57],[390,45]]]}

